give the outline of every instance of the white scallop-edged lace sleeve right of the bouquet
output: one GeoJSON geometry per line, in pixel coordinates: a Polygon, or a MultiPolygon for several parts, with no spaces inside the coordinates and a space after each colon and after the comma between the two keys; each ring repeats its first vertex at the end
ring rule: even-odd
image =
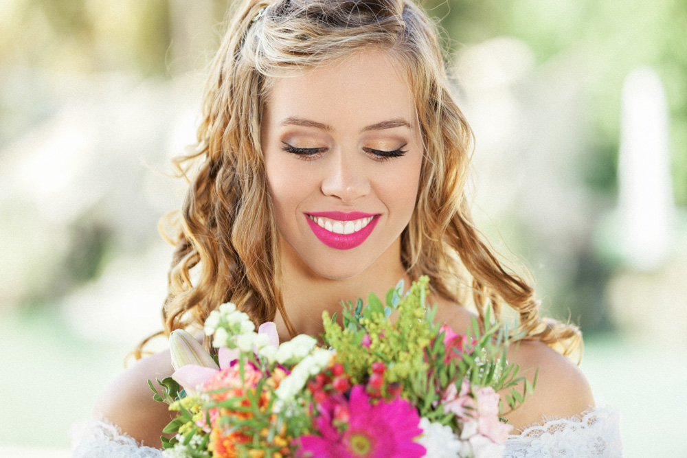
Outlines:
{"type": "Polygon", "coordinates": [[[508,436],[504,458],[622,457],[616,409],[590,408],[574,417],[543,420],[508,436]]]}

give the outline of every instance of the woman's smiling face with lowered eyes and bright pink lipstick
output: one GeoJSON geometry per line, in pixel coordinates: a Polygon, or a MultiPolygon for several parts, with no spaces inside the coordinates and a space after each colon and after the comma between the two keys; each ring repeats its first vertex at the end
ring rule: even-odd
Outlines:
{"type": "Polygon", "coordinates": [[[423,146],[407,77],[390,56],[365,50],[276,80],[262,150],[285,263],[330,279],[398,269],[423,146]]]}

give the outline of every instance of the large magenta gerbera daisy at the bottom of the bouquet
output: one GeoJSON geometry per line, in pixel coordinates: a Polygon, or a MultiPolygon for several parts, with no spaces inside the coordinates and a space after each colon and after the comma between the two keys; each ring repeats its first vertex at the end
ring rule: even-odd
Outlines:
{"type": "MultiPolygon", "coordinates": [[[[420,416],[404,399],[370,403],[362,386],[353,387],[348,401],[348,428],[339,432],[333,424],[341,397],[327,400],[320,408],[316,426],[320,435],[300,438],[301,456],[322,458],[415,458],[427,450],[414,442],[423,430],[420,416]]],[[[345,407],[345,406],[344,406],[345,407]]]]}

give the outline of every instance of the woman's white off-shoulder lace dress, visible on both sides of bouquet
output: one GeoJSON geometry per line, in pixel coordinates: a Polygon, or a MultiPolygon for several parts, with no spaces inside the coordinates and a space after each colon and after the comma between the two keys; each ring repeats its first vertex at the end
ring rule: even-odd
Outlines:
{"type": "MultiPolygon", "coordinates": [[[[543,422],[510,435],[504,458],[622,457],[620,415],[598,407],[580,417],[543,422]]],[[[113,424],[91,420],[72,431],[74,458],[162,458],[161,450],[137,444],[113,424]]],[[[429,457],[431,458],[431,457],[429,457]]]]}

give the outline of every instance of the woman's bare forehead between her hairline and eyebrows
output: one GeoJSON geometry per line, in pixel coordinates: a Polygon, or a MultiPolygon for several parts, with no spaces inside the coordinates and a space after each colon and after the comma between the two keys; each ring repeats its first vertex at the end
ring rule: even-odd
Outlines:
{"type": "Polygon", "coordinates": [[[378,49],[295,76],[274,78],[265,107],[269,123],[291,116],[340,128],[398,117],[416,122],[407,72],[394,56],[378,49]]]}

